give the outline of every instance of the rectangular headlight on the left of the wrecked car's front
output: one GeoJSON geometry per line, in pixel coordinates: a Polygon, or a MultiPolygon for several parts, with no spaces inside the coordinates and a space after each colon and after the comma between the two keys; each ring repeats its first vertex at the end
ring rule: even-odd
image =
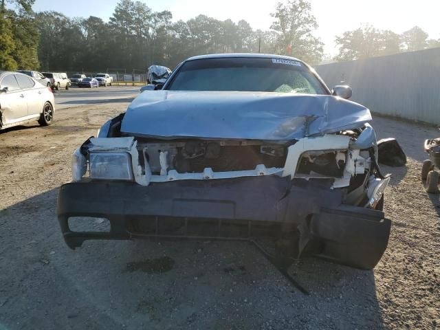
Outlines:
{"type": "Polygon", "coordinates": [[[91,179],[133,180],[129,153],[90,153],[91,179]]]}

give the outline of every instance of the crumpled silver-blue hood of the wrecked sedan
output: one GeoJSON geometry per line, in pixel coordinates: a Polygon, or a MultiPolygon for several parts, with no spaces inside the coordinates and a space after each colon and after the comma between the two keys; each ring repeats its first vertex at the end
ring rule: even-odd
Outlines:
{"type": "Polygon", "coordinates": [[[144,91],[121,132],[146,137],[298,140],[371,121],[360,104],[328,95],[249,91],[144,91]]]}

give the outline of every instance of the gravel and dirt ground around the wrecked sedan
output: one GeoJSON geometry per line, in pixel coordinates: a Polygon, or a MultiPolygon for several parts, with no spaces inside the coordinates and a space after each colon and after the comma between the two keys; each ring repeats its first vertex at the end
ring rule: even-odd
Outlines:
{"type": "Polygon", "coordinates": [[[126,99],[72,107],[49,127],[0,133],[0,329],[438,329],[440,201],[419,180],[427,126],[376,117],[408,155],[386,190],[393,220],[374,271],[303,259],[292,288],[251,245],[89,241],[69,250],[56,219],[74,148],[126,99]]]}

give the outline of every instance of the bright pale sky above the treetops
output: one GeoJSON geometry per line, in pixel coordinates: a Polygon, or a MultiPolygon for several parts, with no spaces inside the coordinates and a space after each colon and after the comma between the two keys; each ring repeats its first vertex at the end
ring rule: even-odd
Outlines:
{"type": "MultiPolygon", "coordinates": [[[[187,21],[198,14],[215,19],[248,21],[254,30],[269,30],[278,0],[140,0],[152,10],[170,10],[173,21],[187,21]]],[[[68,17],[101,17],[107,21],[118,0],[36,0],[34,10],[55,10],[68,17]]],[[[370,23],[381,30],[401,33],[415,25],[440,39],[439,0],[311,0],[319,28],[314,34],[325,43],[325,53],[338,54],[334,39],[347,30],[370,23]]]]}

